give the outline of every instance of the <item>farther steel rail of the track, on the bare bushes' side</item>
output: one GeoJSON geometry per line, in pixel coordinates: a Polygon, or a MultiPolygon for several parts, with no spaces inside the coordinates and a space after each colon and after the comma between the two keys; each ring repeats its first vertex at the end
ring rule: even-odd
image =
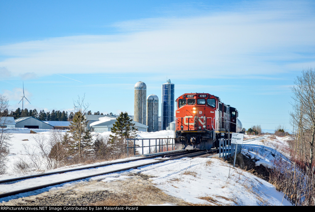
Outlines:
{"type": "MultiPolygon", "coordinates": [[[[188,150],[179,150],[178,152],[176,151],[176,153],[187,152],[187,151],[188,150]]],[[[146,157],[142,157],[142,158],[135,158],[135,159],[130,159],[130,160],[123,160],[123,161],[105,163],[105,164],[94,165],[94,166],[86,166],[86,167],[75,168],[75,169],[67,169],[67,170],[62,170],[62,171],[54,171],[54,172],[37,174],[37,175],[29,175],[29,176],[11,178],[11,179],[6,179],[6,180],[0,180],[0,184],[6,183],[6,182],[12,182],[12,181],[16,181],[16,180],[25,180],[25,179],[29,179],[29,178],[33,178],[33,177],[42,177],[42,176],[47,176],[47,175],[62,174],[62,173],[71,172],[71,171],[78,171],[78,170],[83,170],[83,169],[92,169],[92,168],[104,167],[104,166],[109,166],[109,165],[114,165],[114,164],[119,164],[119,163],[129,163],[132,161],[150,159],[150,158],[156,158],[156,157],[164,157],[165,155],[168,155],[168,154],[171,154],[171,153],[170,152],[168,152],[168,153],[155,153],[155,155],[146,156],[146,157]]]]}

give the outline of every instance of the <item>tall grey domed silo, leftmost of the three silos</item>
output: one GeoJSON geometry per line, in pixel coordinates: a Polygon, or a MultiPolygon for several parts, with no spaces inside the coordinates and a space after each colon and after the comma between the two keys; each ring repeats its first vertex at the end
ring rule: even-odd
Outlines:
{"type": "Polygon", "coordinates": [[[146,124],[146,83],[137,82],[135,84],[135,108],[134,121],[146,124]]]}

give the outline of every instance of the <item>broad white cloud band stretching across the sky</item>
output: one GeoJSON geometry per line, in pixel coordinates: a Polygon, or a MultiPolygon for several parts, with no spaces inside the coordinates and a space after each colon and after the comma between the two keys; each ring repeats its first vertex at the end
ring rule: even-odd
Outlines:
{"type": "MultiPolygon", "coordinates": [[[[196,78],[258,75],[315,66],[315,16],[307,5],[116,23],[124,33],[0,46],[13,75],[161,73],[196,78]]],[[[250,5],[249,5],[250,7],[250,5]]],[[[261,9],[261,8],[263,9],[261,9]]]]}

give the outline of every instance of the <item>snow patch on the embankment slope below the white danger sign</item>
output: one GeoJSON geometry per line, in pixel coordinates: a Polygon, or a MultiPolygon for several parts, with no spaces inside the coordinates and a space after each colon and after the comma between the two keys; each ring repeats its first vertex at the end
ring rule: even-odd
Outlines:
{"type": "Polygon", "coordinates": [[[270,183],[214,158],[183,158],[131,172],[153,175],[157,188],[191,203],[291,205],[270,183]]]}

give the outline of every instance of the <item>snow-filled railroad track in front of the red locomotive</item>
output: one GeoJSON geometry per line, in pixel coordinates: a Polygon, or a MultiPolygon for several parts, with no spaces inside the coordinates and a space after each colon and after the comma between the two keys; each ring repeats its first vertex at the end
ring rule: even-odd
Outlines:
{"type": "MultiPolygon", "coordinates": [[[[188,151],[188,150],[176,151],[176,152],[172,152],[172,153],[153,155],[153,156],[149,156],[149,157],[145,157],[145,158],[136,158],[136,159],[119,161],[119,162],[106,163],[106,164],[97,165],[97,166],[89,166],[89,167],[84,167],[84,168],[69,169],[69,170],[50,172],[50,173],[44,173],[44,174],[39,174],[39,175],[30,175],[30,176],[25,176],[25,177],[1,180],[0,181],[0,188],[1,188],[1,186],[9,185],[11,188],[15,186],[17,188],[17,190],[14,190],[11,192],[6,192],[6,193],[1,193],[0,194],[0,202],[2,201],[1,198],[17,195],[20,193],[35,191],[35,190],[46,188],[49,186],[56,186],[56,185],[64,184],[67,182],[83,180],[83,179],[90,178],[90,177],[95,177],[95,176],[99,176],[99,175],[106,175],[106,174],[111,174],[111,173],[115,173],[115,172],[130,170],[130,169],[137,169],[137,168],[142,167],[142,166],[153,165],[153,164],[157,164],[157,163],[163,163],[163,162],[168,161],[168,160],[175,160],[175,159],[184,158],[184,157],[194,157],[196,155],[202,155],[202,154],[206,154],[206,153],[207,153],[207,151],[188,151]],[[164,159],[160,159],[160,160],[150,160],[150,159],[159,158],[159,157],[170,157],[170,158],[164,158],[164,159]],[[150,160],[150,162],[131,165],[132,162],[137,161],[137,160],[144,160],[144,161],[150,160]],[[104,166],[110,166],[110,165],[114,166],[117,164],[124,164],[124,165],[127,164],[127,166],[124,168],[120,168],[120,169],[114,168],[113,170],[109,170],[109,171],[108,170],[107,171],[99,170],[100,172],[95,171],[98,169],[103,169],[104,166]],[[80,176],[80,177],[76,177],[76,178],[66,179],[67,177],[69,177],[69,176],[66,176],[67,174],[69,174],[68,172],[82,171],[82,170],[86,170],[86,169],[89,169],[89,171],[91,171],[91,172],[92,172],[92,170],[94,170],[97,173],[90,174],[90,175],[84,175],[84,176],[80,176]],[[58,179],[65,179],[65,180],[55,181],[55,182],[43,184],[43,185],[38,185],[40,183],[40,180],[38,181],[38,178],[39,177],[45,177],[47,175],[56,175],[56,177],[58,179]],[[34,184],[36,186],[32,186],[32,187],[28,187],[28,188],[24,188],[24,189],[18,189],[18,188],[23,186],[22,180],[29,181],[28,182],[29,184],[34,184]]],[[[79,173],[72,173],[72,175],[77,176],[77,175],[79,175],[79,173]]]]}

